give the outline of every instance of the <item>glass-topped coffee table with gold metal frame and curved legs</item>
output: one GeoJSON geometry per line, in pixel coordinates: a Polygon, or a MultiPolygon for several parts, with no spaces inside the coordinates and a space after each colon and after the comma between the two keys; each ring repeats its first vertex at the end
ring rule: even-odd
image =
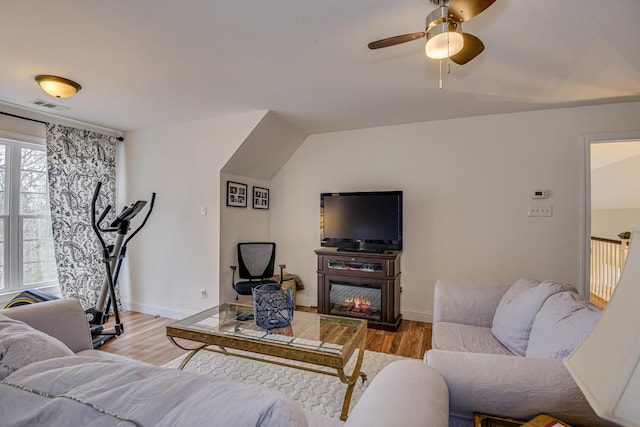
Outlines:
{"type": "Polygon", "coordinates": [[[347,419],[358,377],[363,382],[367,380],[366,374],[360,371],[367,337],[367,321],[364,319],[295,311],[290,325],[266,330],[256,326],[253,306],[224,303],[167,326],[167,337],[177,347],[190,351],[179,369],[183,369],[200,350],[206,350],[337,376],[347,385],[340,415],[343,421],[347,419]],[[185,347],[176,342],[176,338],[200,345],[185,347]],[[347,374],[345,367],[356,349],[359,351],[353,372],[347,374]],[[287,363],[287,360],[318,368],[287,363]]]}

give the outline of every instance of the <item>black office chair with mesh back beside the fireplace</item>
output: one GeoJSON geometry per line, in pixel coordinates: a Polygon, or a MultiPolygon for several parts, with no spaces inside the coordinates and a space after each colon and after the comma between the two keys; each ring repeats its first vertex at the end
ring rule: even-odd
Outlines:
{"type": "MultiPolygon", "coordinates": [[[[251,295],[253,288],[265,283],[278,283],[273,277],[273,266],[276,260],[276,244],[273,242],[238,243],[238,265],[240,279],[236,283],[236,266],[232,265],[231,285],[238,295],[251,295]]],[[[280,284],[286,265],[280,264],[280,284]]]]}

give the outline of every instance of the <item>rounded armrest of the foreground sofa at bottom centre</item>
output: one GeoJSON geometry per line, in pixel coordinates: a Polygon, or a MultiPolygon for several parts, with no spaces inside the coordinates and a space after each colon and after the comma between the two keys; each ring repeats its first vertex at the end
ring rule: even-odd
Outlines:
{"type": "Polygon", "coordinates": [[[400,360],[373,378],[345,427],[447,427],[448,423],[449,394],[442,377],[420,360],[400,360]]]}

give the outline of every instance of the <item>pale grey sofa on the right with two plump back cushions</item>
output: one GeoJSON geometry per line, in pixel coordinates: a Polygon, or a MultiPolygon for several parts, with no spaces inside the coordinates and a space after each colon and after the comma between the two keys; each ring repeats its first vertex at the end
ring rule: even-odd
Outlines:
{"type": "Polygon", "coordinates": [[[480,412],[611,425],[596,416],[562,364],[599,315],[564,283],[438,280],[425,363],[449,388],[449,424],[472,426],[480,412]]]}

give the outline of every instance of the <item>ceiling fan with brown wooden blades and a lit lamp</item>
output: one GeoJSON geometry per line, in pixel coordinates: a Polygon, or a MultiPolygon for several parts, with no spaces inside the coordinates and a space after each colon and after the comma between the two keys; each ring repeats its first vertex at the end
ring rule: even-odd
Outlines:
{"type": "Polygon", "coordinates": [[[449,58],[456,64],[466,64],[482,53],[484,44],[476,36],[463,33],[462,23],[482,13],[494,1],[431,0],[438,8],[427,16],[424,31],[377,40],[369,43],[369,49],[380,49],[426,37],[425,53],[429,58],[449,58]]]}

